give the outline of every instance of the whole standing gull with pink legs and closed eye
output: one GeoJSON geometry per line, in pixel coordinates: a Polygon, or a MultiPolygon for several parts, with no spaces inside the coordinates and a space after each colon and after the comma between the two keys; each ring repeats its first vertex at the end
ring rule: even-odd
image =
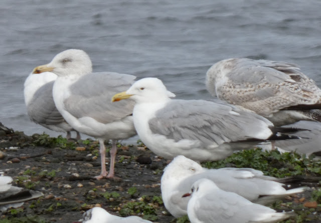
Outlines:
{"type": "Polygon", "coordinates": [[[131,137],[136,131],[131,115],[134,101],[115,104],[110,98],[117,91],[127,89],[136,77],[115,72],[92,73],[91,60],[80,49],[58,53],[50,63],[36,67],[33,73],[45,71],[58,75],[53,97],[62,116],[77,131],[99,140],[101,173],[96,178],[114,177],[117,139],[131,137]],[[108,175],[104,139],[112,139],[108,175]]]}

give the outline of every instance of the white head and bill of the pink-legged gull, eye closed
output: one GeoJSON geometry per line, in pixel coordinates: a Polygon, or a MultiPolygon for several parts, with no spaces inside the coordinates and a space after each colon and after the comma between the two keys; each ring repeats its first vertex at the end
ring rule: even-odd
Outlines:
{"type": "Polygon", "coordinates": [[[51,71],[58,76],[85,75],[92,72],[88,54],[81,49],[67,49],[58,53],[50,63],[37,66],[33,73],[51,71]]]}

